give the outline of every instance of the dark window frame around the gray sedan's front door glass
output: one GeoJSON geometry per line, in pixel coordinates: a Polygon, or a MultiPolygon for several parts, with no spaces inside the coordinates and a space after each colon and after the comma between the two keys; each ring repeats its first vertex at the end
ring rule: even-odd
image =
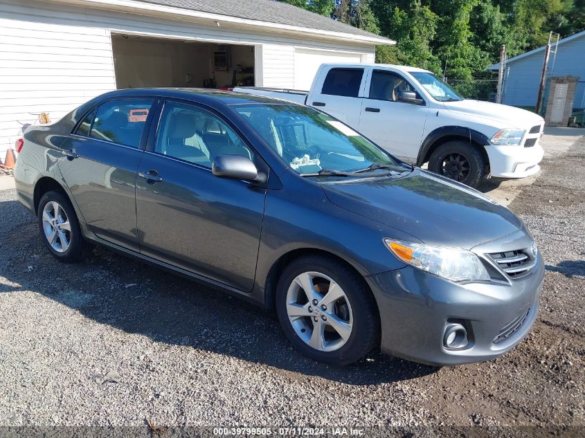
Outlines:
{"type": "MultiPolygon", "coordinates": [[[[246,147],[248,147],[248,149],[251,150],[251,152],[253,154],[252,162],[256,165],[256,167],[258,167],[258,170],[262,171],[262,169],[267,166],[266,161],[264,161],[264,158],[262,158],[262,156],[258,152],[258,149],[253,147],[251,141],[242,133],[242,131],[240,131],[240,129],[238,129],[236,127],[236,125],[233,122],[231,122],[231,120],[229,120],[226,116],[224,116],[224,114],[222,114],[220,111],[217,111],[217,109],[215,109],[213,107],[208,107],[206,104],[201,104],[199,102],[193,102],[192,100],[183,100],[180,98],[161,98],[159,105],[156,109],[156,114],[155,114],[156,121],[152,122],[152,127],[150,129],[150,133],[149,133],[148,138],[147,138],[147,143],[146,143],[146,148],[145,148],[146,154],[152,154],[152,155],[159,156],[161,158],[167,158],[169,160],[177,161],[179,163],[188,164],[188,165],[191,165],[193,167],[197,167],[197,169],[206,170],[209,173],[212,173],[211,167],[207,167],[207,166],[204,166],[204,165],[201,165],[198,163],[193,163],[192,161],[186,161],[186,160],[183,160],[181,158],[174,157],[172,155],[164,155],[164,154],[161,154],[159,152],[156,152],[156,150],[155,150],[156,149],[156,141],[158,140],[159,133],[161,132],[161,129],[162,129],[163,112],[164,112],[165,106],[167,104],[181,104],[185,107],[192,107],[192,108],[195,108],[199,111],[205,111],[205,112],[210,113],[213,116],[219,118],[219,120],[224,122],[224,124],[227,127],[229,127],[234,132],[234,134],[237,135],[238,138],[240,138],[242,143],[244,143],[244,145],[246,145],[246,147]]],[[[212,165],[213,165],[213,163],[212,163],[212,165]]],[[[244,181],[244,182],[249,183],[249,181],[244,181]]]]}

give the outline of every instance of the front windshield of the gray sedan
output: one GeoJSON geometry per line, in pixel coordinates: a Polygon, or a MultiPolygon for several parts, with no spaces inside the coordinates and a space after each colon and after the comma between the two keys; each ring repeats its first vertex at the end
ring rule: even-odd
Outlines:
{"type": "Polygon", "coordinates": [[[405,172],[392,156],[356,131],[312,108],[253,104],[234,109],[299,174],[405,172]]]}

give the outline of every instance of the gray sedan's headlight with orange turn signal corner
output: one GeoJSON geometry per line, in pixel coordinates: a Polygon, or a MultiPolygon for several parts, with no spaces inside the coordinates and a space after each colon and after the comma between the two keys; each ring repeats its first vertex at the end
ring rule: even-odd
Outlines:
{"type": "Polygon", "coordinates": [[[485,266],[471,251],[393,239],[384,239],[384,244],[402,262],[421,271],[453,282],[489,281],[485,266]]]}

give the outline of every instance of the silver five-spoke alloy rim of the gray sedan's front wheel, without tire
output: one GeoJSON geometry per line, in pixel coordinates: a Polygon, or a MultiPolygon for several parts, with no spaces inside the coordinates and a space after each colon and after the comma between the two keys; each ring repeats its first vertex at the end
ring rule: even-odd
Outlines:
{"type": "Polygon", "coordinates": [[[348,297],[332,278],[305,272],[291,282],[287,314],[294,331],[307,345],[332,352],[347,343],[353,315],[348,297]]]}

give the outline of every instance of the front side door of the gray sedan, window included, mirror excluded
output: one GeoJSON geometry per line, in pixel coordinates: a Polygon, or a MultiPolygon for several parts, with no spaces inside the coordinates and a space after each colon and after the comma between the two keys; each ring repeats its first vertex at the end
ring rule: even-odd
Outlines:
{"type": "Polygon", "coordinates": [[[219,155],[258,159],[217,114],[165,102],[136,181],[141,252],[251,291],[266,190],[214,176],[219,155]]]}

